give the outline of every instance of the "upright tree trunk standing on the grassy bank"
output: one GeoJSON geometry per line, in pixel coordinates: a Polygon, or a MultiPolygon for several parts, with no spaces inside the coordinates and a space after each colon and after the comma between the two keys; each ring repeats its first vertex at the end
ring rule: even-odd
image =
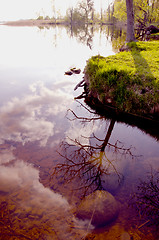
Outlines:
{"type": "Polygon", "coordinates": [[[126,10],[127,10],[127,36],[126,41],[135,41],[134,33],[134,10],[133,10],[133,0],[126,0],[126,10]]]}

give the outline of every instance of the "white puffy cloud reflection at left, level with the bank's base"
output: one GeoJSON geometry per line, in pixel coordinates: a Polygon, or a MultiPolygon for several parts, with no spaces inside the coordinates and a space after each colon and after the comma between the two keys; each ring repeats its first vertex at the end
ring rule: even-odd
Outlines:
{"type": "Polygon", "coordinates": [[[67,108],[70,96],[60,90],[53,91],[43,84],[30,88],[33,94],[13,98],[0,109],[1,143],[14,140],[25,144],[39,141],[45,146],[55,133],[54,117],[60,117],[67,108]]]}

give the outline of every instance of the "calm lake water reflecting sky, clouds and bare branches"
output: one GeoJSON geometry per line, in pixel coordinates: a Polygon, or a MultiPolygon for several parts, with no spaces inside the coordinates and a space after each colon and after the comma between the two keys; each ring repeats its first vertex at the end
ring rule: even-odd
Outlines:
{"type": "Polygon", "coordinates": [[[0,26],[0,36],[0,239],[156,239],[151,218],[129,203],[140,181],[159,171],[158,136],[115,123],[98,164],[108,175],[98,186],[90,159],[110,120],[74,100],[86,61],[115,54],[122,31],[0,26]],[[65,75],[72,67],[81,74],[65,75]],[[74,215],[96,188],[120,205],[118,218],[100,229],[74,215]]]}

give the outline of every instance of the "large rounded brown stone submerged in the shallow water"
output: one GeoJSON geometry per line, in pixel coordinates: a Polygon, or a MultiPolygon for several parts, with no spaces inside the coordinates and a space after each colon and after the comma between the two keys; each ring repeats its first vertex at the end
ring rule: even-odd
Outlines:
{"type": "Polygon", "coordinates": [[[76,217],[90,220],[95,227],[104,226],[116,219],[119,205],[113,195],[97,190],[86,196],[79,204],[76,217]]]}

